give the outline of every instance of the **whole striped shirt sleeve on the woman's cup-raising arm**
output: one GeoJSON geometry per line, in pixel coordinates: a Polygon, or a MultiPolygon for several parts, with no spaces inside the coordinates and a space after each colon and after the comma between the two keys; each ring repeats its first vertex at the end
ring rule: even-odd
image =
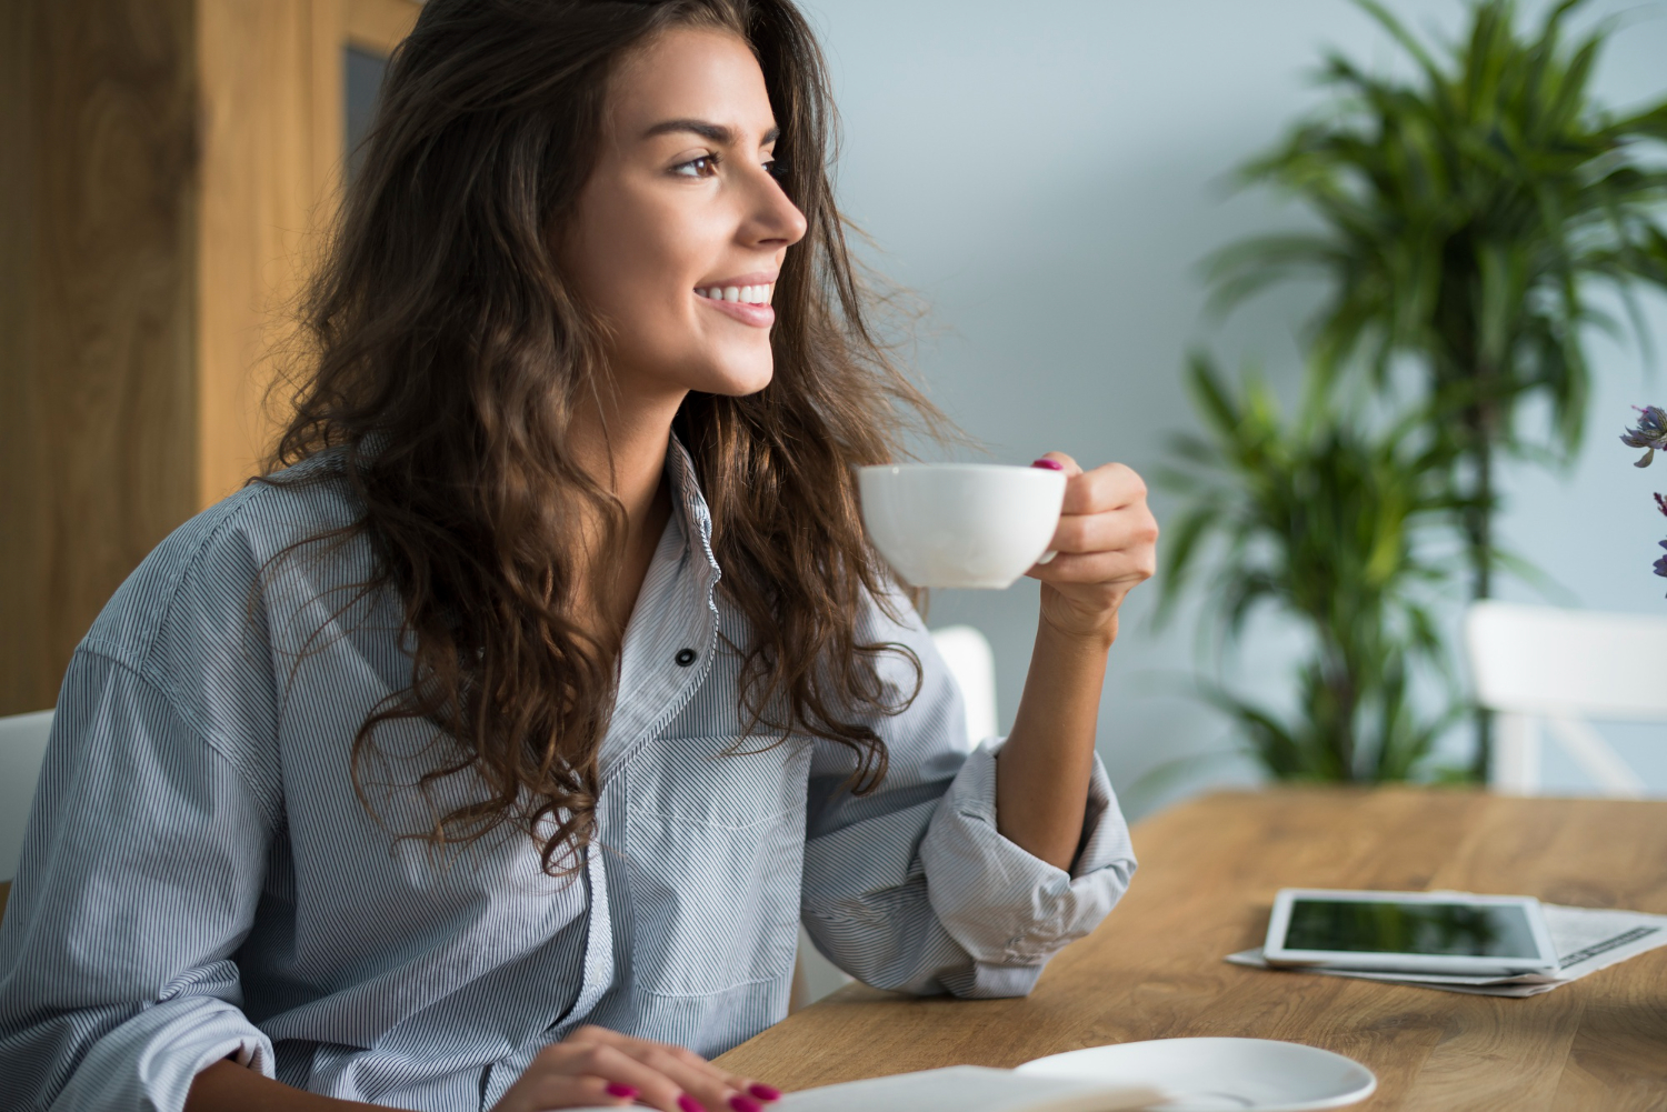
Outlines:
{"type": "MultiPolygon", "coordinates": [[[[912,614],[909,615],[912,617],[912,614]]],[[[875,632],[920,660],[920,690],[874,727],[887,742],[884,785],[854,795],[850,755],[817,754],[810,780],[803,922],[832,962],[865,984],[964,997],[1024,995],[1047,960],[1112,910],[1134,875],[1129,827],[1099,757],[1077,859],[1065,872],[995,827],[1000,739],[970,755],[960,694],[919,624],[875,632]]],[[[907,692],[892,655],[882,679],[907,692]]]]}

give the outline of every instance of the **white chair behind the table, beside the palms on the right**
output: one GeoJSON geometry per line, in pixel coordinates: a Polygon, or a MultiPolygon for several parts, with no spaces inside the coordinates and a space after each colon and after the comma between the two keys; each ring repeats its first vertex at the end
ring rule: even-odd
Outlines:
{"type": "Polygon", "coordinates": [[[1477,702],[1499,714],[1494,789],[1539,792],[1544,720],[1604,794],[1644,795],[1589,719],[1667,724],[1667,617],[1477,602],[1465,645],[1477,702]]]}

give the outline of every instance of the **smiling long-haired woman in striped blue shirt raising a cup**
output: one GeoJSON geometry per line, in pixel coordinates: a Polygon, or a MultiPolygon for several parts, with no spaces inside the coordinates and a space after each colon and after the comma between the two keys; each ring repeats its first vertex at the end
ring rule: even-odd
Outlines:
{"type": "Polygon", "coordinates": [[[920,398],[864,325],[788,0],[428,0],[275,472],[65,679],[0,1105],[755,1112],[797,924],[1024,994],[1134,860],[1094,722],[1152,567],[1069,472],[1012,735],[864,540],[920,398]],[[997,760],[997,752],[1000,759],[997,760]]]}

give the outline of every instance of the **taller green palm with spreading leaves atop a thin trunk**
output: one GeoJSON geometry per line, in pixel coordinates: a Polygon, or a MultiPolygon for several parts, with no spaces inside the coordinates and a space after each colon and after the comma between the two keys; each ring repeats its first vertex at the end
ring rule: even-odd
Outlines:
{"type": "MultiPolygon", "coordinates": [[[[1357,0],[1412,62],[1410,78],[1367,73],[1332,53],[1320,73],[1330,110],[1295,127],[1244,180],[1299,200],[1319,228],[1264,235],[1219,253],[1210,275],[1229,307],[1270,283],[1319,275],[1329,295],[1312,322],[1322,380],[1390,388],[1397,367],[1440,440],[1432,460],[1455,495],[1469,592],[1487,597],[1500,453],[1580,443],[1594,282],[1632,307],[1637,283],[1667,287],[1659,222],[1667,102],[1610,113],[1590,95],[1609,27],[1570,37],[1582,0],[1554,3],[1519,32],[1514,0],[1470,7],[1469,33],[1432,48],[1375,0],[1357,0]],[[1534,443],[1529,400],[1554,418],[1534,443]]],[[[1630,312],[1632,327],[1642,318],[1630,312]]],[[[1405,388],[1405,383],[1400,383],[1405,388]]],[[[1477,717],[1472,774],[1484,777],[1489,724],[1477,717]]]]}

